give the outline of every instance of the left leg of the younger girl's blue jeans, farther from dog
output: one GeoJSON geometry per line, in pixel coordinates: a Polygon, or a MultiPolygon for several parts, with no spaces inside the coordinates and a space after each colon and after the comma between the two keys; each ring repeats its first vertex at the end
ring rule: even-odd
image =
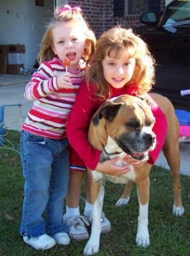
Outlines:
{"type": "MultiPolygon", "coordinates": [[[[65,141],[65,147],[67,147],[67,139],[65,141]]],[[[46,232],[42,214],[49,202],[49,193],[54,194],[50,188],[52,165],[54,156],[59,151],[57,140],[49,140],[25,131],[20,134],[20,154],[25,179],[20,224],[22,235],[37,237],[46,232]]],[[[63,163],[61,165],[63,170],[63,163]]],[[[63,214],[63,209],[61,213],[63,214]]]]}

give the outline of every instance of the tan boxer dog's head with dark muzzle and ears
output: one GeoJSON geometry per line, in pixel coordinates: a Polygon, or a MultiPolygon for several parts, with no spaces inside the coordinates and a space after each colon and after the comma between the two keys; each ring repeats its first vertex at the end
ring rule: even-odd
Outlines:
{"type": "Polygon", "coordinates": [[[122,95],[102,104],[92,119],[95,127],[104,123],[102,129],[106,129],[107,136],[138,160],[145,159],[156,143],[152,132],[155,118],[148,99],[122,95]]]}

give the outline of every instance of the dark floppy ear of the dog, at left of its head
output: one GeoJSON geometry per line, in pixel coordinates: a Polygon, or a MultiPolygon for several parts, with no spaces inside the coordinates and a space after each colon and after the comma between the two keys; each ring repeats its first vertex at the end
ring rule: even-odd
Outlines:
{"type": "Polygon", "coordinates": [[[105,118],[106,120],[113,120],[118,113],[118,110],[123,105],[123,103],[113,103],[111,101],[104,102],[100,106],[96,115],[93,116],[92,123],[93,125],[99,125],[100,119],[105,118]]]}

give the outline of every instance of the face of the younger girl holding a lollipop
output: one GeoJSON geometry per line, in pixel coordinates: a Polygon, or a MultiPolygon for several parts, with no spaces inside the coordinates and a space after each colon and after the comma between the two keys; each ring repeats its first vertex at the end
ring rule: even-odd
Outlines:
{"type": "Polygon", "coordinates": [[[53,51],[63,61],[65,58],[70,60],[71,69],[76,70],[79,61],[83,56],[86,40],[84,37],[81,23],[73,20],[59,22],[52,29],[53,51]]]}

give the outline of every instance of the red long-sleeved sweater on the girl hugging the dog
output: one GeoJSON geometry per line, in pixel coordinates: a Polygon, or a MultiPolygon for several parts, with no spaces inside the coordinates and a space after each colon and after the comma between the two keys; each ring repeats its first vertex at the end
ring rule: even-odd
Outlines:
{"type": "MultiPolygon", "coordinates": [[[[91,92],[95,92],[95,89],[90,85],[91,92]]],[[[131,86],[123,88],[113,88],[110,85],[112,91],[112,97],[117,97],[123,94],[137,95],[136,84],[131,84],[131,86]]],[[[67,118],[67,136],[70,144],[74,148],[75,152],[83,159],[85,166],[88,166],[91,170],[95,170],[95,167],[99,163],[101,151],[91,147],[88,142],[88,127],[90,121],[95,111],[99,109],[102,104],[95,93],[90,93],[86,82],[81,84],[79,93],[74,102],[73,109],[70,116],[67,118]]],[[[152,103],[152,112],[155,116],[155,125],[153,131],[157,134],[157,146],[154,150],[150,151],[150,160],[148,163],[154,164],[159,153],[161,152],[162,145],[164,144],[164,139],[167,131],[167,122],[162,113],[161,109],[152,103]]],[[[72,163],[74,164],[74,163],[72,163]]]]}

